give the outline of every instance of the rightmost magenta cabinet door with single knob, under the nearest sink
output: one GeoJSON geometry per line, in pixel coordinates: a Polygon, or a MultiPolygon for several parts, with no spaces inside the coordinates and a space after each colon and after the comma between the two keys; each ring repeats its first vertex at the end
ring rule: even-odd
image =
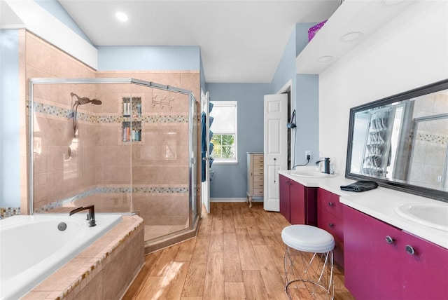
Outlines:
{"type": "Polygon", "coordinates": [[[448,250],[405,231],[402,235],[402,299],[448,299],[448,250]]]}

